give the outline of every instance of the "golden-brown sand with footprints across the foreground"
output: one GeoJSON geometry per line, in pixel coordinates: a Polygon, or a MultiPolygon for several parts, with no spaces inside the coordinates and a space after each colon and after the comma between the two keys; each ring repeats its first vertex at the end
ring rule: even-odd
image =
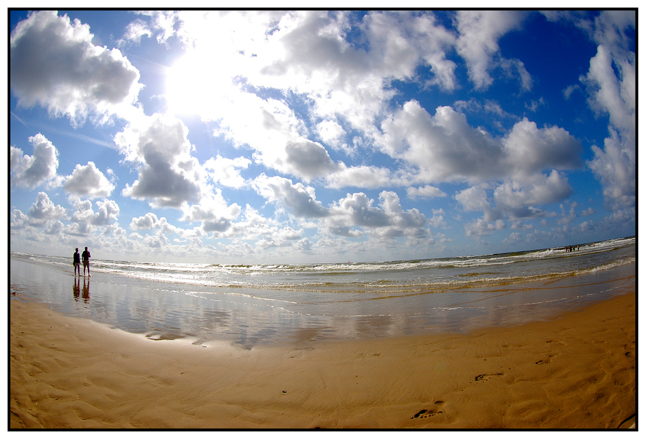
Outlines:
{"type": "Polygon", "coordinates": [[[151,341],[12,299],[9,424],[634,428],[635,343],[635,292],[511,328],[251,350],[151,341]]]}

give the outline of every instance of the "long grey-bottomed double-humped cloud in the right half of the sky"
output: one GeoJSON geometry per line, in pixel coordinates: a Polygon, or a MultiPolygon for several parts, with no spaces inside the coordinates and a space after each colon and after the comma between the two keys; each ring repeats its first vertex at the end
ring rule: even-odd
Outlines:
{"type": "Polygon", "coordinates": [[[438,107],[431,116],[409,101],[382,128],[383,151],[416,166],[424,181],[524,180],[543,170],[582,165],[578,140],[563,128],[538,128],[527,119],[499,139],[473,128],[451,107],[438,107]]]}

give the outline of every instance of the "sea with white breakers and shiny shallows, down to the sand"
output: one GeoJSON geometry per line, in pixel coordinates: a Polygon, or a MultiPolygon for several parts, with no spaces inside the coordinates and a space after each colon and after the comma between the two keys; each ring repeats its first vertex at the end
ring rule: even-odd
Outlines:
{"type": "MultiPolygon", "coordinates": [[[[94,253],[94,252],[93,252],[94,253]]],[[[636,288],[636,237],[457,258],[226,265],[10,252],[10,290],[143,334],[242,348],[467,332],[553,318],[636,288]]]]}

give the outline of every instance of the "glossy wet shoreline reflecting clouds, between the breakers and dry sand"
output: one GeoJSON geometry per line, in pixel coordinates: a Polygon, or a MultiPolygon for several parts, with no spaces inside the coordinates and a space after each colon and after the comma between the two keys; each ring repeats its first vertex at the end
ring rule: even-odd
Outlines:
{"type": "Polygon", "coordinates": [[[411,334],[469,332],[550,320],[617,293],[636,288],[636,264],[575,276],[519,283],[473,283],[469,288],[378,296],[289,295],[237,291],[186,294],[177,285],[138,285],[102,274],[90,283],[60,270],[12,265],[10,289],[66,315],[91,318],[149,338],[227,341],[251,348],[293,341],[383,338],[411,334]],[[72,281],[74,279],[74,281],[72,281]],[[172,293],[158,294],[158,288],[172,293]],[[176,294],[179,292],[179,294],[176,294]],[[285,302],[286,301],[286,302],[285,302]],[[293,301],[293,302],[292,302],[293,301]],[[349,302],[348,302],[349,301],[349,302]],[[168,310],[168,312],[167,312],[168,310]]]}

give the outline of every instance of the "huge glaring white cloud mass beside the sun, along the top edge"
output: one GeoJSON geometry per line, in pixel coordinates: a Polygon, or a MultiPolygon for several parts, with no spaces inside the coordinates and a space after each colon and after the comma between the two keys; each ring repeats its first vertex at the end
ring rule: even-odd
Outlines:
{"type": "MultiPolygon", "coordinates": [[[[176,93],[184,104],[191,103],[184,107],[199,108],[203,119],[219,121],[219,133],[256,149],[258,158],[272,167],[288,166],[288,161],[276,159],[284,159],[288,141],[302,142],[296,134],[302,133],[302,126],[288,107],[258,90],[289,91],[312,103],[311,115],[327,122],[320,126],[321,136],[332,147],[350,151],[339,122],[374,132],[374,122],[394,96],[392,80],[414,78],[423,66],[433,75],[429,85],[447,90],[457,86],[455,63],[446,57],[455,36],[432,13],[374,11],[359,19],[352,11],[180,11],[173,20],[171,31],[191,47],[182,64],[192,67],[183,73],[185,88],[176,93]],[[199,38],[207,29],[219,29],[226,38],[199,38]],[[353,29],[362,31],[365,44],[351,41],[348,34],[353,29]],[[217,72],[203,61],[212,57],[221,60],[217,72]],[[209,75],[200,74],[205,69],[209,75]],[[219,87],[202,87],[200,96],[191,94],[193,83],[211,83],[214,74],[219,87]],[[210,105],[205,107],[205,102],[210,105]]],[[[149,29],[168,35],[168,22],[150,23],[149,29]]],[[[142,24],[136,28],[136,38],[149,31],[142,24]]],[[[277,169],[312,178],[307,172],[298,174],[298,165],[277,169]]]]}

